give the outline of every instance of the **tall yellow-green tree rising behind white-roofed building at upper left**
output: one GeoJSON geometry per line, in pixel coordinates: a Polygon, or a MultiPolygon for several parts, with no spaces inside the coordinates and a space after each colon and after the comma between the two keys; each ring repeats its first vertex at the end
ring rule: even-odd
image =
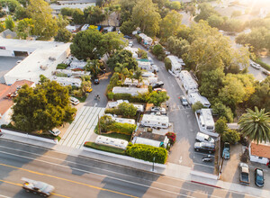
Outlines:
{"type": "Polygon", "coordinates": [[[30,0],[27,7],[34,24],[34,34],[40,39],[49,39],[58,31],[57,21],[52,17],[52,9],[43,0],[30,0]]]}

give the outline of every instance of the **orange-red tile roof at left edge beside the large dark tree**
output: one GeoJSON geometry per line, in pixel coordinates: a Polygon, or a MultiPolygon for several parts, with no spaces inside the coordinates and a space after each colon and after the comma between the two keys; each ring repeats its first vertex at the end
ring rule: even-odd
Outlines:
{"type": "Polygon", "coordinates": [[[13,104],[13,99],[8,99],[5,96],[9,93],[14,93],[19,85],[33,85],[34,83],[29,80],[19,80],[14,85],[0,84],[0,114],[4,114],[13,104]]]}

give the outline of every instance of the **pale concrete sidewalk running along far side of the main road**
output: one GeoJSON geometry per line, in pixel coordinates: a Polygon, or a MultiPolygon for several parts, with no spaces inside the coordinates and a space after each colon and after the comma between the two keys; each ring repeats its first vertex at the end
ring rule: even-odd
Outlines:
{"type": "MultiPolygon", "coordinates": [[[[152,172],[152,163],[144,162],[138,159],[127,160],[125,157],[119,156],[111,153],[106,153],[103,151],[89,152],[83,149],[70,148],[62,145],[54,145],[47,142],[42,142],[40,140],[34,139],[23,139],[18,136],[3,134],[1,139],[9,139],[25,144],[30,144],[42,148],[49,148],[61,153],[65,153],[71,156],[80,156],[80,157],[90,157],[96,160],[101,160],[104,162],[120,165],[120,166],[130,166],[131,168],[139,169],[142,171],[152,172]],[[141,161],[141,162],[139,162],[141,161]]],[[[131,157],[129,157],[131,158],[131,157]]],[[[206,175],[201,172],[193,171],[192,167],[181,166],[173,163],[167,163],[166,166],[155,166],[156,174],[166,175],[169,177],[174,177],[176,179],[182,179],[184,181],[190,181],[196,184],[205,184],[216,188],[227,189],[230,191],[235,191],[239,193],[248,193],[255,195],[257,197],[270,197],[270,191],[264,189],[253,188],[249,186],[244,186],[241,184],[227,183],[216,179],[211,179],[213,175],[206,175]]]]}

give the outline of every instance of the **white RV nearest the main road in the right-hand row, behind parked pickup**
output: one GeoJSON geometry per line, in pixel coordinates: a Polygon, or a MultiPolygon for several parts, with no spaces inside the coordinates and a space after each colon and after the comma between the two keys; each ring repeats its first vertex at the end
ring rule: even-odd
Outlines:
{"type": "Polygon", "coordinates": [[[202,130],[208,130],[212,132],[215,129],[215,122],[213,121],[210,109],[201,109],[198,111],[199,115],[199,127],[202,130]]]}

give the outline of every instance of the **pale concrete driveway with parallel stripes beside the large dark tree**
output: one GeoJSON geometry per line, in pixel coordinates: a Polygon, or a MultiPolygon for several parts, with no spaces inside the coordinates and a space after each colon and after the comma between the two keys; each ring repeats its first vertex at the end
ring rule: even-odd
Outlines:
{"type": "Polygon", "coordinates": [[[71,148],[83,148],[85,141],[89,140],[94,133],[98,116],[103,116],[104,111],[105,108],[101,107],[83,106],[58,144],[71,148]]]}

